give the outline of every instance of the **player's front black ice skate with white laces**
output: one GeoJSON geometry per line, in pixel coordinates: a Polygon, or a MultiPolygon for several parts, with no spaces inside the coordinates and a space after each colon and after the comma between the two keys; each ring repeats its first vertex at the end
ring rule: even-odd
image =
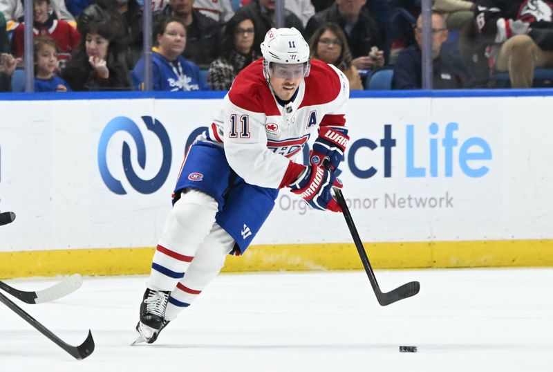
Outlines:
{"type": "Polygon", "coordinates": [[[160,331],[169,323],[163,319],[168,300],[169,291],[147,288],[140,304],[140,320],[136,325],[136,331],[140,336],[133,344],[140,342],[151,344],[157,340],[160,331]]]}

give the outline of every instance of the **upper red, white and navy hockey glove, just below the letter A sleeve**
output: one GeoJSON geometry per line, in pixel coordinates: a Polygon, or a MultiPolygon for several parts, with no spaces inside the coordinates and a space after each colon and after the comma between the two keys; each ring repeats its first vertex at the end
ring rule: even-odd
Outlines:
{"type": "Polygon", "coordinates": [[[309,153],[309,162],[311,165],[323,164],[325,158],[330,162],[330,170],[337,169],[344,158],[344,150],[348,145],[350,138],[346,128],[328,128],[319,129],[319,137],[313,144],[313,149],[309,153]]]}

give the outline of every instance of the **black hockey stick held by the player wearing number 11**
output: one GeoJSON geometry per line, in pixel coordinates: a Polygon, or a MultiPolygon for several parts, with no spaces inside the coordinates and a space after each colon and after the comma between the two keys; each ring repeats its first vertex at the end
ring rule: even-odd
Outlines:
{"type": "Polygon", "coordinates": [[[353,218],[351,218],[350,210],[348,209],[348,205],[346,204],[346,199],[344,198],[344,195],[341,193],[340,189],[335,188],[334,192],[336,195],[336,200],[338,201],[338,205],[341,207],[341,210],[344,213],[344,218],[346,218],[346,223],[348,224],[348,227],[350,229],[351,237],[353,238],[353,242],[355,243],[355,248],[357,248],[357,252],[359,252],[359,257],[361,258],[363,267],[365,268],[365,272],[367,273],[368,281],[370,281],[371,286],[373,286],[376,299],[378,300],[380,306],[393,304],[395,301],[400,301],[400,299],[406,299],[408,297],[416,295],[420,290],[420,283],[418,281],[405,283],[403,286],[397,287],[395,288],[395,290],[391,290],[390,292],[386,293],[380,290],[378,282],[376,281],[375,272],[371,267],[371,263],[368,261],[365,248],[363,247],[363,243],[361,241],[361,238],[359,237],[359,233],[357,232],[355,223],[353,223],[353,218]]]}

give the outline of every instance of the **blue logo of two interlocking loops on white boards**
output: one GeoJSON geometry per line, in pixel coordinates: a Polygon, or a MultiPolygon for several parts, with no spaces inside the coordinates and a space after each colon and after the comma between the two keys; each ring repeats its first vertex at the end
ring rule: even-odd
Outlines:
{"type": "MultiPolygon", "coordinates": [[[[131,186],[138,192],[142,194],[152,194],[156,192],[167,180],[169,175],[169,170],[171,169],[171,142],[169,140],[169,135],[167,131],[159,122],[150,116],[142,116],[142,121],[146,124],[146,127],[149,131],[152,131],[158,139],[160,140],[162,151],[163,151],[163,160],[161,163],[160,170],[158,174],[149,180],[142,180],[135,173],[132,163],[131,163],[131,148],[126,141],[123,141],[121,158],[122,166],[126,179],[129,181],[131,186]]],[[[106,186],[115,194],[124,195],[126,194],[125,189],[120,180],[114,178],[108,168],[108,159],[107,159],[107,148],[109,140],[111,137],[118,131],[124,131],[129,133],[133,138],[133,141],[138,152],[138,165],[142,169],[146,167],[146,145],[144,144],[144,137],[140,133],[140,128],[138,127],[133,120],[126,118],[126,116],[118,116],[113,118],[106,124],[102,135],[100,136],[100,141],[98,143],[98,167],[100,169],[100,175],[106,186]]],[[[113,162],[113,160],[111,160],[113,162]]]]}

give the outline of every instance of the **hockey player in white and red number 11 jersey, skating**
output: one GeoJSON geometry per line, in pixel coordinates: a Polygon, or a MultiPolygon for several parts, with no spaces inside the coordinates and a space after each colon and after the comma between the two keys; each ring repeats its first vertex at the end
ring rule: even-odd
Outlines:
{"type": "Polygon", "coordinates": [[[330,189],[348,143],[348,79],[320,61],[295,28],[272,28],[263,58],[241,71],[223,109],[191,145],[153,256],[136,342],[154,342],[223,267],[243,254],[290,188],[317,210],[341,212],[330,189]],[[310,164],[294,162],[316,138],[310,164]],[[323,167],[328,158],[330,167],[323,167]]]}

